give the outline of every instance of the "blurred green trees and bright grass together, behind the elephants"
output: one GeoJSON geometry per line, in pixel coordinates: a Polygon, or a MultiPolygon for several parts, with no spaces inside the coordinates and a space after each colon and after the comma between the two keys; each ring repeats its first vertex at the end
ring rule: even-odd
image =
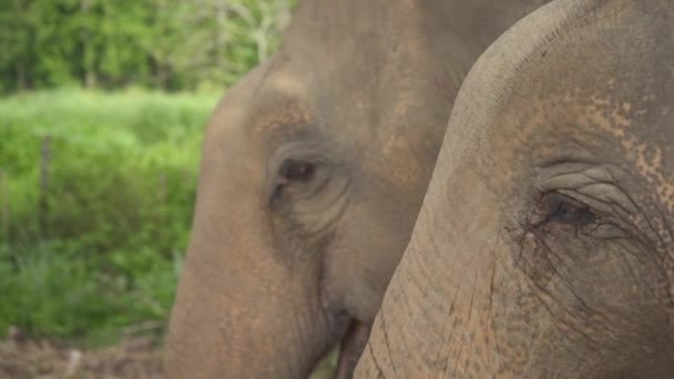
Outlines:
{"type": "Polygon", "coordinates": [[[0,1],[0,337],[161,331],[204,125],[288,1],[0,1]]]}

